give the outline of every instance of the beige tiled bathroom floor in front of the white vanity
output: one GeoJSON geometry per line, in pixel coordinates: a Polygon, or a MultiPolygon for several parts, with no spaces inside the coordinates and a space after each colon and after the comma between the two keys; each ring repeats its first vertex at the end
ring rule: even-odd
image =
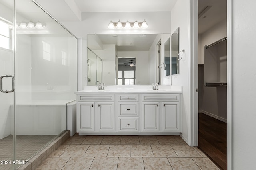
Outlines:
{"type": "Polygon", "coordinates": [[[179,136],[70,137],[37,170],[219,170],[179,136]]]}

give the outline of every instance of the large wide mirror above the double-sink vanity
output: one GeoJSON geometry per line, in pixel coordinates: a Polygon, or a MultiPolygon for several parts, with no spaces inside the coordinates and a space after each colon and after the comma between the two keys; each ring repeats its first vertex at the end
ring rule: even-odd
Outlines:
{"type": "MultiPolygon", "coordinates": [[[[150,85],[158,82],[157,44],[159,41],[163,41],[162,44],[164,44],[170,36],[170,34],[87,35],[88,48],[102,59],[102,82],[100,83],[150,85]]],[[[170,47],[167,50],[170,51],[170,47]]],[[[164,53],[161,58],[164,58],[164,53]]],[[[95,67],[90,66],[89,74],[95,72],[90,70],[93,68],[95,67]]],[[[163,73],[162,75],[164,76],[163,73]]],[[[98,83],[95,78],[90,77],[90,79],[91,82],[88,85],[98,83]]]]}

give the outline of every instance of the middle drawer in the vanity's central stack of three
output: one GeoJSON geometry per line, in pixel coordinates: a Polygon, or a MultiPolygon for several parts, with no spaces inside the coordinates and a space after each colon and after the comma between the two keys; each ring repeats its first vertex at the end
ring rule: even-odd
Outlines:
{"type": "Polygon", "coordinates": [[[118,104],[118,115],[119,116],[138,116],[139,106],[138,103],[126,103],[120,102],[118,104]]]}

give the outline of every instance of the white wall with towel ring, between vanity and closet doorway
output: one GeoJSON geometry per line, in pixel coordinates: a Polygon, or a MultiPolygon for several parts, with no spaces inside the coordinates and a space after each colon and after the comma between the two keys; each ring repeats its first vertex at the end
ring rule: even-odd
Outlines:
{"type": "Polygon", "coordinates": [[[171,33],[180,27],[180,50],[185,50],[180,60],[180,73],[172,75],[172,85],[182,86],[181,137],[190,145],[190,0],[178,0],[171,16],[171,33]]]}

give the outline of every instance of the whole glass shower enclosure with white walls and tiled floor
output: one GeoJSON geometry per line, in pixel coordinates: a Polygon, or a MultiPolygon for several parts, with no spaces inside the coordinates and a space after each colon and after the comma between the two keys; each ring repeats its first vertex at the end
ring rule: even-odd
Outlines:
{"type": "Polygon", "coordinates": [[[0,0],[0,91],[0,169],[16,169],[66,131],[77,91],[77,38],[34,0],[0,0]]]}

